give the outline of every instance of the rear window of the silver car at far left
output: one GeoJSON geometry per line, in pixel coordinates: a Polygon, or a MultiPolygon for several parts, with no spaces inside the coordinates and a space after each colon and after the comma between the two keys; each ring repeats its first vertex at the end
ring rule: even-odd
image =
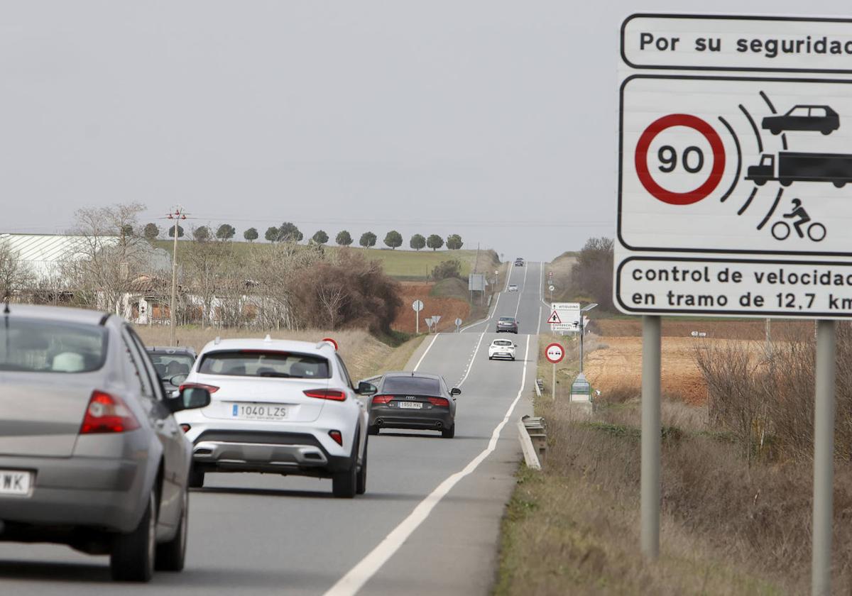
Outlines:
{"type": "Polygon", "coordinates": [[[86,373],[107,359],[107,330],[39,318],[0,320],[0,370],[86,373]]]}

